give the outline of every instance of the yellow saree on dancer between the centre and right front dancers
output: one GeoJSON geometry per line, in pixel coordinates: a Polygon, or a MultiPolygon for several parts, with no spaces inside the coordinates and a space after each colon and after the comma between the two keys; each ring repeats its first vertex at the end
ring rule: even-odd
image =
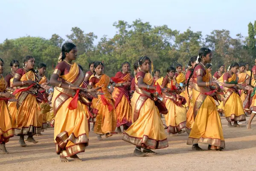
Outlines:
{"type": "MultiPolygon", "coordinates": [[[[175,86],[176,81],[169,81],[166,87],[172,89],[171,84],[175,86]]],[[[167,132],[173,134],[179,133],[180,130],[183,130],[186,126],[186,109],[181,104],[175,104],[177,100],[178,98],[175,94],[173,96],[163,95],[163,101],[168,109],[168,113],[165,115],[166,125],[168,126],[167,132]]]]}

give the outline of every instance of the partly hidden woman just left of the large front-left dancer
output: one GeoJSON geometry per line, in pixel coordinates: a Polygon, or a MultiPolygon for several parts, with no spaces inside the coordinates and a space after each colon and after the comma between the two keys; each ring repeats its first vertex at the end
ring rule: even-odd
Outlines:
{"type": "MultiPolygon", "coordinates": [[[[44,63],[39,63],[37,70],[38,70],[38,84],[43,84],[43,83],[47,83],[49,84],[49,79],[44,75],[45,71],[46,71],[46,64],[44,63]]],[[[44,129],[47,128],[47,113],[49,112],[49,110],[51,109],[47,96],[49,96],[48,93],[45,92],[45,90],[39,90],[40,95],[38,96],[38,99],[40,99],[41,101],[39,101],[40,103],[40,109],[41,109],[41,115],[42,115],[42,130],[41,132],[44,131],[44,129]],[[41,97],[40,97],[41,96],[41,97]]],[[[37,135],[42,135],[37,134],[37,135]]]]}

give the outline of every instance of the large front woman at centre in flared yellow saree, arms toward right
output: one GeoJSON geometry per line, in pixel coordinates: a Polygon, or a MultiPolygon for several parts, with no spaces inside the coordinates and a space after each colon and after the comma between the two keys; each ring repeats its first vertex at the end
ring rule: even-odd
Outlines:
{"type": "Polygon", "coordinates": [[[159,113],[164,112],[159,111],[155,106],[158,93],[156,93],[157,88],[153,86],[154,78],[149,73],[150,59],[146,56],[140,57],[139,68],[141,71],[135,78],[136,91],[131,99],[133,124],[124,133],[123,140],[136,145],[134,150],[136,156],[145,156],[155,153],[151,149],[168,147],[168,140],[159,113]]]}

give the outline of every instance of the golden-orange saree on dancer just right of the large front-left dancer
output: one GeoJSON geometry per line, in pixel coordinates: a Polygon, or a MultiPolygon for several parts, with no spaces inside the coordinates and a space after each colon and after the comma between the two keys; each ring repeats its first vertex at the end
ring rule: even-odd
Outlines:
{"type": "Polygon", "coordinates": [[[116,130],[116,111],[114,108],[113,98],[108,91],[109,82],[110,77],[103,74],[99,82],[93,84],[93,87],[101,87],[98,91],[105,93],[104,95],[98,95],[98,99],[93,98],[92,101],[93,108],[99,110],[98,115],[96,116],[93,132],[99,135],[113,133],[116,130]]]}

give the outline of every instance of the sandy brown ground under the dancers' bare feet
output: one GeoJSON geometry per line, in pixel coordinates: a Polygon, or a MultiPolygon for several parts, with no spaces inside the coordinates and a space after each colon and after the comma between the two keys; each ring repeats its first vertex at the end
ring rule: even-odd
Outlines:
{"type": "MultiPolygon", "coordinates": [[[[248,118],[247,118],[248,119],[248,118]]],[[[224,151],[192,151],[186,145],[188,135],[167,136],[169,148],[156,150],[158,155],[134,157],[134,145],[114,135],[98,141],[90,131],[90,143],[79,157],[82,162],[61,163],[55,154],[53,129],[35,137],[39,142],[18,145],[18,137],[6,144],[8,155],[0,155],[0,171],[253,171],[256,170],[256,122],[255,130],[228,128],[221,118],[226,149],[224,151]]],[[[207,149],[207,145],[201,145],[207,149]]]]}

